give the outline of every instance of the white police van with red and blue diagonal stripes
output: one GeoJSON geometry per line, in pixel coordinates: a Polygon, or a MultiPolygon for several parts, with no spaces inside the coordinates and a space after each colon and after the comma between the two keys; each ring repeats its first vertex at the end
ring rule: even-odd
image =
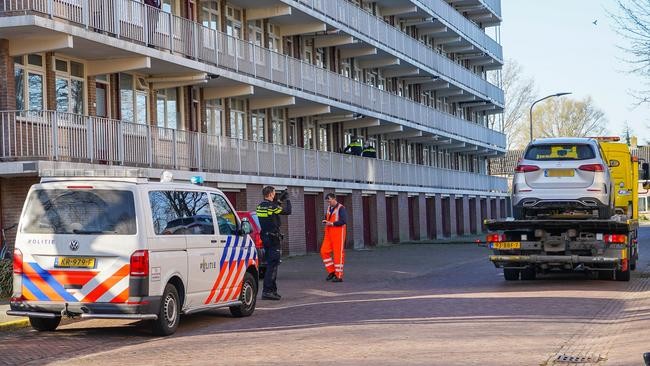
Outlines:
{"type": "Polygon", "coordinates": [[[221,191],[168,172],[160,182],[96,173],[43,178],[29,190],[7,314],[29,317],[39,331],[81,317],[147,320],[154,334],[169,335],[181,314],[253,313],[251,225],[221,191]]]}

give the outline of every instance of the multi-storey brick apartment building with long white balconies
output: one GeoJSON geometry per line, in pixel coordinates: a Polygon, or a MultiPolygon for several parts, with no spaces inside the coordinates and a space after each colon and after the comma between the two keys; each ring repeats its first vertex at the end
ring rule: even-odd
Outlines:
{"type": "Polygon", "coordinates": [[[52,169],[202,175],[238,210],[288,189],[285,254],[317,250],[328,192],[355,248],[506,214],[499,0],[161,3],[0,0],[2,225],[52,169]]]}

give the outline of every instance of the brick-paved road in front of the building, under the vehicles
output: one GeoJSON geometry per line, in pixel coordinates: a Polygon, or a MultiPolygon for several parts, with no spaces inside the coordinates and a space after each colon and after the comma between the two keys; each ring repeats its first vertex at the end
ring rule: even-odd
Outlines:
{"type": "Polygon", "coordinates": [[[291,258],[280,269],[283,300],[259,301],[250,318],[187,316],[168,338],[98,320],[15,331],[0,335],[0,363],[568,365],[557,361],[565,355],[639,365],[650,351],[650,228],[640,242],[629,283],[505,282],[474,245],[352,252],[340,284],[324,281],[317,256],[291,258]]]}

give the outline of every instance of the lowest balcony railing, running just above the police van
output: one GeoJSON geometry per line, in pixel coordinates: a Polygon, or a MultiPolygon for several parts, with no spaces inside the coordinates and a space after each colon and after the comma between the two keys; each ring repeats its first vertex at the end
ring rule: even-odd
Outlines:
{"type": "Polygon", "coordinates": [[[1,158],[469,191],[501,178],[53,111],[0,112],[1,158]]]}

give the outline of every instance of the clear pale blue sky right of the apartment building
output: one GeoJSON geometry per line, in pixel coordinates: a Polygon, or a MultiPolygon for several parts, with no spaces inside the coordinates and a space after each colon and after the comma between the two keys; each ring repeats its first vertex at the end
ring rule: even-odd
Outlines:
{"type": "Polygon", "coordinates": [[[644,84],[627,72],[627,54],[619,48],[626,41],[608,14],[615,6],[615,0],[502,0],[503,54],[535,80],[539,97],[565,91],[572,98],[591,96],[605,113],[609,135],[622,135],[627,122],[645,144],[650,107],[635,108],[630,95],[644,84]]]}

